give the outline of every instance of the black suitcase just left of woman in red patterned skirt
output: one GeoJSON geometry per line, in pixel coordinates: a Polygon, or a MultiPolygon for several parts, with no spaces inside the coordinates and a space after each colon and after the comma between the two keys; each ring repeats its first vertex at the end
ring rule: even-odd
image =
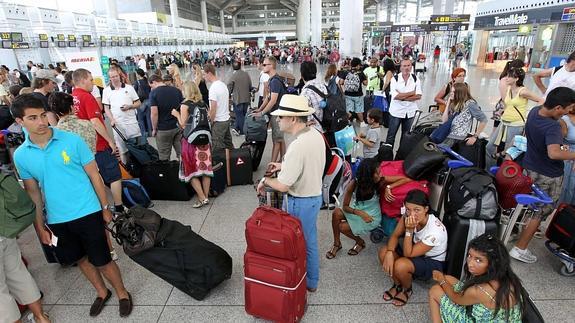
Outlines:
{"type": "Polygon", "coordinates": [[[155,161],[142,166],[140,182],[152,200],[188,201],[191,186],[179,178],[180,162],[155,161]]]}

